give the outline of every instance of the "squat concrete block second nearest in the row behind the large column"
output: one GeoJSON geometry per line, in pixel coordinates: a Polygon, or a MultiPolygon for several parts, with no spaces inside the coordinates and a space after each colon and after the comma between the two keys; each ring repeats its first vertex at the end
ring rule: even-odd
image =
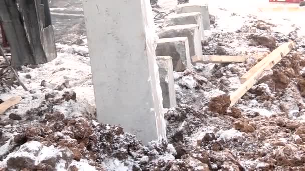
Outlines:
{"type": "Polygon", "coordinates": [[[188,37],[161,38],[158,40],[156,56],[172,56],[173,68],[183,72],[191,68],[191,57],[188,37]]]}

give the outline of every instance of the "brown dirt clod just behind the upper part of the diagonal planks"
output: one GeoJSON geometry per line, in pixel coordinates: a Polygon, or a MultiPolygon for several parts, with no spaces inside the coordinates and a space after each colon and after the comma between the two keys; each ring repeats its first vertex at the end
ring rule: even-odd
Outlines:
{"type": "Polygon", "coordinates": [[[277,48],[276,38],[271,35],[257,35],[251,34],[248,36],[248,39],[252,40],[255,46],[265,46],[273,51],[277,48]]]}

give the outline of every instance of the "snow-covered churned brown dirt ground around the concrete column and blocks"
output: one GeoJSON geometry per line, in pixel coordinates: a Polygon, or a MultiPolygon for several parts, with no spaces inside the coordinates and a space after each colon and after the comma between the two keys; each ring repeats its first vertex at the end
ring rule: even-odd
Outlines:
{"type": "MultiPolygon", "coordinates": [[[[22,97],[0,116],[0,170],[305,170],[305,25],[300,12],[267,10],[297,4],[197,0],[215,17],[203,54],[248,59],[175,72],[178,106],[165,114],[168,141],[144,146],[122,127],[95,121],[81,0],[50,1],[58,57],[20,68],[30,92],[0,72],[0,103],[22,97]],[[209,105],[234,92],[259,57],[290,40],[296,49],[234,107],[209,105]]],[[[155,15],[171,14],[175,2],[152,2],[155,15]]],[[[156,19],[157,30],[162,21],[156,19]]]]}

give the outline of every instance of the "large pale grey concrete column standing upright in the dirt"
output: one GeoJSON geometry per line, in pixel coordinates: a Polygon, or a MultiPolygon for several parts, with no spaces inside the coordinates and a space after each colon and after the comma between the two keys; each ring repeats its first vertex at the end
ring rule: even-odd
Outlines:
{"type": "Polygon", "coordinates": [[[97,119],[166,138],[149,0],[83,0],[97,119]],[[157,126],[156,126],[157,125],[157,126]]]}

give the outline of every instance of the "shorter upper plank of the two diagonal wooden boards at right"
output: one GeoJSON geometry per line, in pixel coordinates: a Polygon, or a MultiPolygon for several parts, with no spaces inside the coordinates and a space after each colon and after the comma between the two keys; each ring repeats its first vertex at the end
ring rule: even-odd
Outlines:
{"type": "Polygon", "coordinates": [[[247,73],[245,73],[240,78],[240,82],[241,83],[246,82],[251,78],[253,74],[256,73],[257,73],[256,79],[258,79],[260,75],[263,73],[263,71],[270,70],[275,64],[277,64],[282,59],[283,56],[286,56],[291,51],[290,46],[292,46],[291,49],[293,49],[295,47],[295,43],[292,41],[288,43],[284,43],[281,46],[279,46],[277,49],[273,50],[269,55],[267,55],[254,67],[252,67],[247,73]],[[263,67],[264,65],[269,65],[269,66],[263,67]],[[263,70],[260,69],[262,67],[264,68],[263,70]],[[258,72],[259,69],[260,71],[258,72]]]}

